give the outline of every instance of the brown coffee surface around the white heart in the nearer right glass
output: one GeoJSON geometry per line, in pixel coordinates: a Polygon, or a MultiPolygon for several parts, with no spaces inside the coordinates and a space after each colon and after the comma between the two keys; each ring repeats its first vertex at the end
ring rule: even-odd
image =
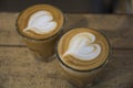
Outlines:
{"type": "Polygon", "coordinates": [[[78,69],[78,70],[90,70],[90,69],[94,69],[102,66],[108,59],[109,53],[110,53],[110,46],[105,36],[103,36],[98,31],[88,29],[88,28],[79,28],[79,29],[73,29],[69,31],[61,37],[58,44],[58,54],[60,59],[63,62],[63,64],[65,64],[70,68],[78,69]],[[94,43],[100,44],[101,46],[101,53],[96,58],[90,59],[90,61],[82,61],[82,59],[78,59],[71,54],[63,56],[64,53],[68,51],[70,40],[75,34],[79,34],[79,33],[92,33],[95,35],[96,40],[94,43]]]}

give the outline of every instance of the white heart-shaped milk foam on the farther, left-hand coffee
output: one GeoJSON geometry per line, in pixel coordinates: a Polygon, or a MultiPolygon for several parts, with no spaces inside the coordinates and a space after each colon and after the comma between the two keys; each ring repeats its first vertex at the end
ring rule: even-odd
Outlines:
{"type": "Polygon", "coordinates": [[[28,26],[23,30],[33,31],[38,34],[44,34],[53,31],[57,28],[58,23],[53,20],[52,14],[49,11],[38,11],[33,13],[28,22],[28,26]]]}

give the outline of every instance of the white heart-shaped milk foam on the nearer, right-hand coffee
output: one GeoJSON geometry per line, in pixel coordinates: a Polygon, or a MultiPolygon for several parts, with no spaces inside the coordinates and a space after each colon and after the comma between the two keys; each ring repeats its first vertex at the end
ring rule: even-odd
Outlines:
{"type": "Polygon", "coordinates": [[[96,37],[92,33],[79,33],[69,43],[68,51],[63,56],[72,55],[78,59],[90,61],[101,53],[101,45],[94,44],[96,37]]]}

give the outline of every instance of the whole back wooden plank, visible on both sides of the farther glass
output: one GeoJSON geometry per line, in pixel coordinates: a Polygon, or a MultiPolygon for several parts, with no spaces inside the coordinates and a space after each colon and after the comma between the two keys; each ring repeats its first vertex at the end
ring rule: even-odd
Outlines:
{"type": "MultiPolygon", "coordinates": [[[[16,31],[18,13],[0,13],[0,45],[23,45],[16,31]]],[[[88,26],[100,30],[115,48],[133,48],[133,16],[116,14],[65,14],[64,32],[88,26]]]]}

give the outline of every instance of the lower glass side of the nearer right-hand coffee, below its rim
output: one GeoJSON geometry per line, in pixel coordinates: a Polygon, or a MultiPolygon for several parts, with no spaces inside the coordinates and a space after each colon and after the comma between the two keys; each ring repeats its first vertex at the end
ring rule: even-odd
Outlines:
{"type": "Polygon", "coordinates": [[[94,81],[101,76],[103,67],[95,68],[89,72],[79,72],[71,69],[60,63],[64,78],[78,88],[92,86],[94,81]]]}

